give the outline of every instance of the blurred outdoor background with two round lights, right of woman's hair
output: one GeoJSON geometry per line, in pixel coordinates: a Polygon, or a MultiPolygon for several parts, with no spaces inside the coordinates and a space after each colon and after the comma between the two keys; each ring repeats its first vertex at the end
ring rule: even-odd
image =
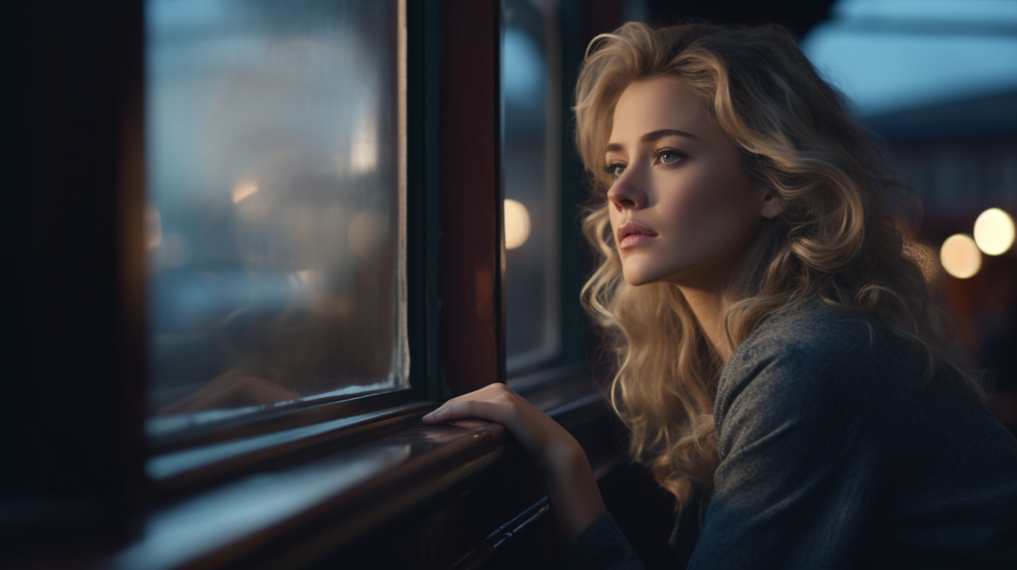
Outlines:
{"type": "Polygon", "coordinates": [[[838,0],[801,46],[920,197],[908,237],[1017,433],[1017,1],[838,0]]]}

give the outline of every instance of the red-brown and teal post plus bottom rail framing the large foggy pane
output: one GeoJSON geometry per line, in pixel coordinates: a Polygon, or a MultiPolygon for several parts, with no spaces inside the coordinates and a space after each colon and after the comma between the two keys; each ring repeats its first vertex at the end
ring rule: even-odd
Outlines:
{"type": "MultiPolygon", "coordinates": [[[[149,476],[157,502],[296,456],[368,441],[419,420],[454,394],[504,381],[500,67],[486,64],[498,61],[500,3],[482,2],[473,10],[442,9],[439,2],[404,0],[400,5],[407,41],[405,275],[411,388],[295,402],[153,439],[144,459],[149,472],[153,462],[188,450],[214,450],[226,442],[255,440],[352,414],[365,416],[314,437],[253,447],[239,456],[210,457],[165,478],[149,476]],[[487,25],[478,24],[477,18],[487,25]],[[408,152],[414,148],[424,153],[408,152]],[[492,191],[477,191],[477,180],[485,179],[480,187],[492,191]],[[442,298],[473,302],[442,305],[442,298]]],[[[140,90],[143,93],[143,84],[140,90]]],[[[140,188],[124,191],[137,193],[140,188]]],[[[143,256],[132,267],[143,268],[143,256]]],[[[138,277],[143,284],[143,276],[138,277]]]]}

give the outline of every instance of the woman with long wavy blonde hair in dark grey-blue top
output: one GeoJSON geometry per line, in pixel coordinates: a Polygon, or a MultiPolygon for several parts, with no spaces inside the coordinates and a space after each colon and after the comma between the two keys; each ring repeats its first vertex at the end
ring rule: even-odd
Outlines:
{"type": "MultiPolygon", "coordinates": [[[[885,151],[794,41],[627,23],[591,44],[576,113],[584,302],[687,567],[1017,568],[1017,441],[896,229],[885,151]]],[[[641,567],[564,430],[502,385],[425,421],[467,416],[545,473],[565,566],[641,567]]]]}

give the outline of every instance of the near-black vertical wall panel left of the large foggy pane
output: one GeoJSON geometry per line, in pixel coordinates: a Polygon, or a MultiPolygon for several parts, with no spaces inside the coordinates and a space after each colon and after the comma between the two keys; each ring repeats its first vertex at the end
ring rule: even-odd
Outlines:
{"type": "Polygon", "coordinates": [[[0,8],[5,544],[110,528],[137,498],[140,7],[0,8]]]}

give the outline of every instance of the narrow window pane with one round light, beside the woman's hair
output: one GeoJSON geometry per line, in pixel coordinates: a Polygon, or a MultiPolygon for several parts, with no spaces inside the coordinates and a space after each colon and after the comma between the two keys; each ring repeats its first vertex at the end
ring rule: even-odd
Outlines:
{"type": "Polygon", "coordinates": [[[559,72],[555,3],[505,0],[502,41],[506,367],[552,359],[559,341],[559,72]]]}

